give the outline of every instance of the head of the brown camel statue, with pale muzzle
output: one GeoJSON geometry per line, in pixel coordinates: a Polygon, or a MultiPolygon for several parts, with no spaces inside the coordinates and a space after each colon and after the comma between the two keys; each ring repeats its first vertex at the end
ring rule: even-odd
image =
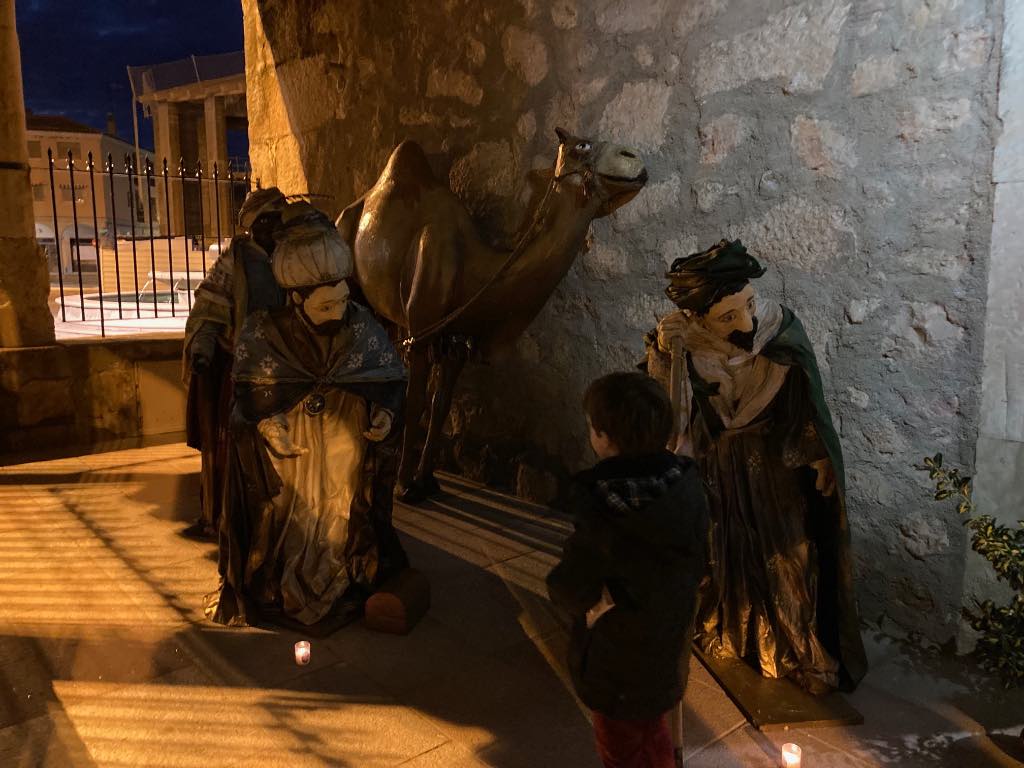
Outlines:
{"type": "Polygon", "coordinates": [[[647,183],[647,169],[636,150],[610,141],[573,136],[561,128],[555,179],[575,184],[600,205],[596,218],[607,216],[636,197],[647,183]]]}

